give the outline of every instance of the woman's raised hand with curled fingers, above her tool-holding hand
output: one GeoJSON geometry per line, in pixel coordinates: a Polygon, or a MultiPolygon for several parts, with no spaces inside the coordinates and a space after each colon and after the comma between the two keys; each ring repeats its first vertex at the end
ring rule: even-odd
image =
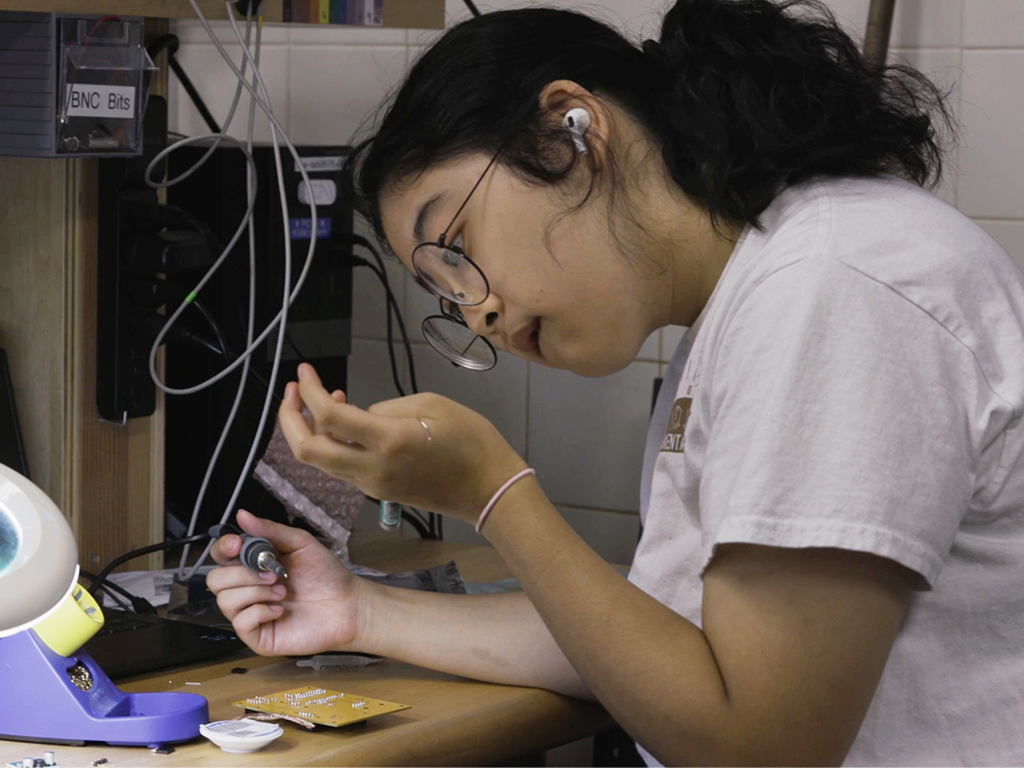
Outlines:
{"type": "Polygon", "coordinates": [[[421,393],[364,411],[328,392],[308,364],[299,366],[298,385],[285,388],[278,417],[304,464],[374,498],[468,522],[526,467],[489,421],[454,400],[421,393]]]}

